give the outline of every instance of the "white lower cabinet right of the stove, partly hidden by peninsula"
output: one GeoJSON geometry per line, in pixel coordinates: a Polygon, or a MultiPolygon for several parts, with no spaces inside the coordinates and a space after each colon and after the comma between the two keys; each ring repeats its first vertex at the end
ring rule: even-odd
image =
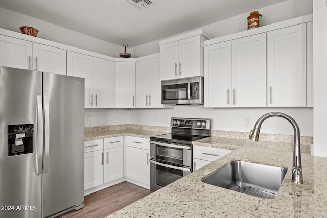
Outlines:
{"type": "Polygon", "coordinates": [[[193,171],[230,153],[229,149],[219,149],[204,146],[193,146],[193,171]]]}

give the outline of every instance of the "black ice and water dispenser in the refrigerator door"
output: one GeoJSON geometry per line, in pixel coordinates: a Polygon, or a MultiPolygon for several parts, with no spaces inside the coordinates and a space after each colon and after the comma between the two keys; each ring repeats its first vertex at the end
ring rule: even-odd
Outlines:
{"type": "Polygon", "coordinates": [[[33,124],[8,125],[8,156],[33,153],[33,124]]]}

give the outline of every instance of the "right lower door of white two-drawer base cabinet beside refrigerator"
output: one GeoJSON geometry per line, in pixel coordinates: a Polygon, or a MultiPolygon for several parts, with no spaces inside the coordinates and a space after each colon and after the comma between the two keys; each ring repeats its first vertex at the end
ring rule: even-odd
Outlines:
{"type": "Polygon", "coordinates": [[[124,177],[124,147],[104,150],[104,183],[124,177]]]}

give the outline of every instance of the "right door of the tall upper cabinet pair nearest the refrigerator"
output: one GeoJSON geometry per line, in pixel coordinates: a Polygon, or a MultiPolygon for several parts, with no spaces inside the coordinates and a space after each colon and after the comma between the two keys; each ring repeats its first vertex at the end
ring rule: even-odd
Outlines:
{"type": "Polygon", "coordinates": [[[95,108],[115,107],[115,63],[94,58],[95,108]]]}

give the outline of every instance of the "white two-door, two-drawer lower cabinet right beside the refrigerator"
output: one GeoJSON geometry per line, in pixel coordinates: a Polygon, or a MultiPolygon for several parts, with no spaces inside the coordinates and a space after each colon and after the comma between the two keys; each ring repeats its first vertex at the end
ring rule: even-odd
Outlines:
{"type": "Polygon", "coordinates": [[[123,136],[84,142],[84,190],[86,195],[122,182],[123,136]]]}

